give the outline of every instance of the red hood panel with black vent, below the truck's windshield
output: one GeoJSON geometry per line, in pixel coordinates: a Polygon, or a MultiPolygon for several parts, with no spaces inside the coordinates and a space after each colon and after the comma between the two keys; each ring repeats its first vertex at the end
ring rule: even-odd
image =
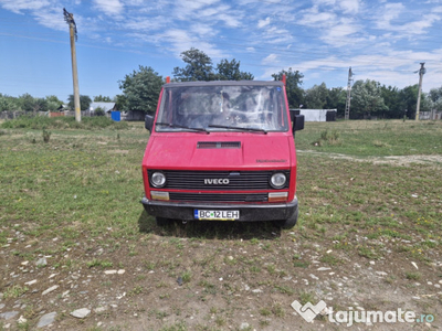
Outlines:
{"type": "Polygon", "coordinates": [[[156,135],[143,164],[150,169],[256,170],[287,169],[291,136],[285,135],[156,135]]]}

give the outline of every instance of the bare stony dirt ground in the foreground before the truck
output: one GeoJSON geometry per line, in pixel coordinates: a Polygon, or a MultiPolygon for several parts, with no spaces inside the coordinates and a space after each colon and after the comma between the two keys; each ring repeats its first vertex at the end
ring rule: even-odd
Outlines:
{"type": "MultiPolygon", "coordinates": [[[[144,215],[141,222],[151,221],[144,215]]],[[[201,231],[201,226],[212,225],[181,224],[169,229],[191,233],[189,226],[201,231]]],[[[27,231],[3,228],[8,243],[0,250],[0,313],[6,318],[0,321],[18,330],[23,317],[33,330],[43,316],[55,312],[44,330],[347,329],[343,317],[341,322],[330,322],[328,316],[318,316],[307,323],[291,307],[294,300],[316,305],[319,298],[335,313],[398,308],[436,317],[442,313],[441,257],[425,264],[394,253],[398,245],[413,247],[421,238],[357,237],[362,245],[370,243],[388,252],[386,258],[371,259],[350,258],[320,242],[307,244],[295,231],[280,233],[275,228],[266,238],[256,239],[250,238],[255,235],[251,227],[233,229],[242,231],[246,239],[201,241],[156,228],[135,246],[113,238],[109,228],[92,241],[84,234],[62,248],[59,237],[29,244],[27,231]],[[41,260],[44,263],[39,266],[41,260]],[[412,277],[415,279],[410,280],[412,277]],[[84,318],[71,314],[83,308],[90,311],[84,318]],[[10,317],[13,312],[17,314],[10,317]]],[[[338,316],[332,317],[336,320],[338,316]]],[[[438,329],[441,321],[357,328],[428,330],[429,325],[438,329]]]]}

